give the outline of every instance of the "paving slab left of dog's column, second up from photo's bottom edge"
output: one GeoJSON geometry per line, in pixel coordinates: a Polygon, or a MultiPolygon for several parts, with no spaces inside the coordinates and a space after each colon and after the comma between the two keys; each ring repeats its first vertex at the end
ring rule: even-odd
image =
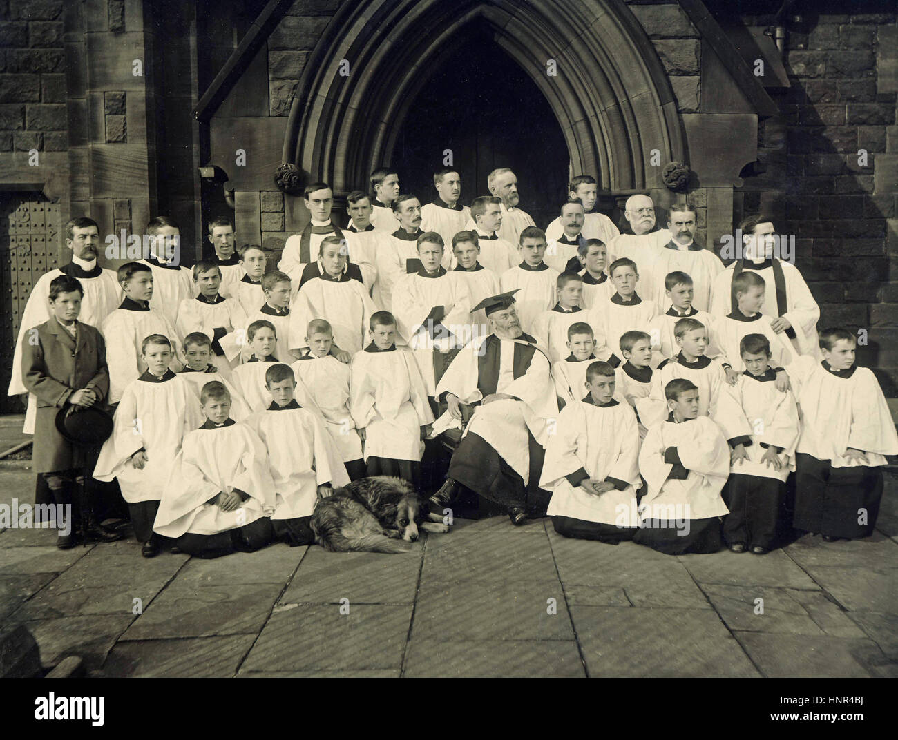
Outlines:
{"type": "Polygon", "coordinates": [[[258,634],[280,596],[279,583],[193,587],[174,584],[153,600],[121,640],[258,634]]]}

